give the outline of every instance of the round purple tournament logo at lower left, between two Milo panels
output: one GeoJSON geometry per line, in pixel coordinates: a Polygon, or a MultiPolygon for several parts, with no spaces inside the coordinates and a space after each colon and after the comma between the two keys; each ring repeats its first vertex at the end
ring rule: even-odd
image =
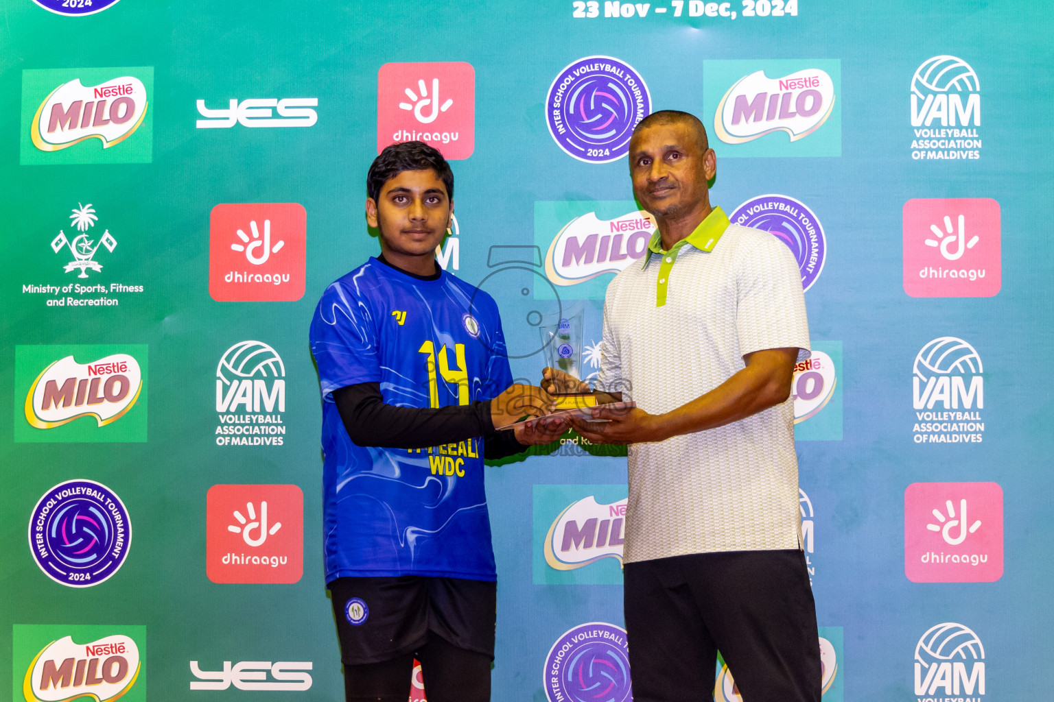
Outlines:
{"type": "Polygon", "coordinates": [[[129,512],[94,480],[67,480],[44,493],[30,517],[30,550],[48,578],[70,587],[109,580],[132,541],[129,512]]]}

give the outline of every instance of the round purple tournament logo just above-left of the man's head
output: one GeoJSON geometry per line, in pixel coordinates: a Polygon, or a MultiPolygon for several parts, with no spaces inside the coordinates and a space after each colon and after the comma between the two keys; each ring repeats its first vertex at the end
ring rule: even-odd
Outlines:
{"type": "Polygon", "coordinates": [[[629,153],[633,127],[651,114],[651,95],[628,63],[587,56],[557,75],[545,107],[549,134],[564,153],[610,163],[629,153]]]}

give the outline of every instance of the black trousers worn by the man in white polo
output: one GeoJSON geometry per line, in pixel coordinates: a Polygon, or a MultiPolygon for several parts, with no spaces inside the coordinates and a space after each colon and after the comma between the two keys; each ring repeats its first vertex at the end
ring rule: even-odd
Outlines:
{"type": "Polygon", "coordinates": [[[701,697],[714,687],[720,650],[744,702],[820,702],[819,633],[805,568],[800,550],[626,563],[633,700],[701,697]]]}

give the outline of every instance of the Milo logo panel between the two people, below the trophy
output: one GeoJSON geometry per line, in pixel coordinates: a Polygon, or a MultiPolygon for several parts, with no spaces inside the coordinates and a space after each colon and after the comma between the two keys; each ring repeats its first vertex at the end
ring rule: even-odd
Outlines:
{"type": "Polygon", "coordinates": [[[626,496],[626,485],[534,485],[534,584],[621,585],[626,496]]]}

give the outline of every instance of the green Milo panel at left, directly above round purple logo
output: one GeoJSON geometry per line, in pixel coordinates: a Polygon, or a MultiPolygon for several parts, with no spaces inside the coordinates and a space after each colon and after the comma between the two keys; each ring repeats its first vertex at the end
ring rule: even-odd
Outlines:
{"type": "Polygon", "coordinates": [[[16,346],[15,441],[145,441],[147,346],[16,346]]]}

